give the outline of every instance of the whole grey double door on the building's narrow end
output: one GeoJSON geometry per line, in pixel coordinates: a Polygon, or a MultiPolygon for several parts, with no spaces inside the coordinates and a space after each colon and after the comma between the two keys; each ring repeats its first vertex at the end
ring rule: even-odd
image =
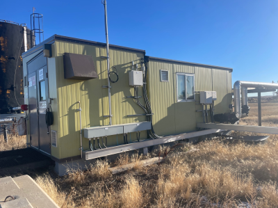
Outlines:
{"type": "Polygon", "coordinates": [[[51,139],[45,122],[49,107],[47,58],[40,54],[28,63],[27,68],[31,146],[51,154],[51,139]]]}

